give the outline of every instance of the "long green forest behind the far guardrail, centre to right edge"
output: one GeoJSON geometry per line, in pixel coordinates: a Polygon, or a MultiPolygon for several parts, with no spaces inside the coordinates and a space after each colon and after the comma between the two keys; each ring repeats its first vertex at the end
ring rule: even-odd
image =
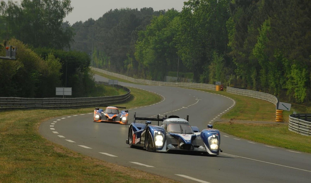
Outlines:
{"type": "Polygon", "coordinates": [[[72,45],[91,54],[93,66],[132,77],[163,81],[179,69],[192,72],[193,82],[221,81],[308,103],[310,11],[308,0],[189,0],[181,12],[116,9],[76,22],[72,45]]]}

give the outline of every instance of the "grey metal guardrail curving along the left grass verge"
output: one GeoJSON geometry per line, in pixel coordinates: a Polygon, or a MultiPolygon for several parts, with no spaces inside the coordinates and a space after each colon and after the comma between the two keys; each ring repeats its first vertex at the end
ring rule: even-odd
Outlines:
{"type": "MultiPolygon", "coordinates": [[[[97,84],[109,85],[108,82],[95,82],[97,84]]],[[[131,96],[130,89],[114,85],[114,87],[123,88],[127,91],[119,96],[101,96],[84,98],[20,98],[20,97],[0,97],[0,110],[13,109],[67,109],[99,106],[100,104],[120,103],[128,100],[131,96]]]]}

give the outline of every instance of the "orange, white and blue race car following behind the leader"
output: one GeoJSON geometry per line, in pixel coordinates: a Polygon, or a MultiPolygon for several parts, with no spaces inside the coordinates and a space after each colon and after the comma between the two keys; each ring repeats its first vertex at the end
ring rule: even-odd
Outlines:
{"type": "Polygon", "coordinates": [[[105,110],[100,108],[95,108],[94,110],[94,122],[110,122],[110,123],[120,123],[120,124],[128,124],[128,110],[122,110],[119,113],[118,108],[126,109],[126,107],[118,107],[118,106],[104,106],[105,110]]]}

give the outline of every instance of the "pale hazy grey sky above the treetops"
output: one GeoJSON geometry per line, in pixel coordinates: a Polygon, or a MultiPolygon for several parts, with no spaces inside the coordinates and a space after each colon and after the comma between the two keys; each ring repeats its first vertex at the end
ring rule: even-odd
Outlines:
{"type": "MultiPolygon", "coordinates": [[[[5,0],[7,2],[8,0],[5,0]]],[[[183,2],[188,0],[71,0],[72,12],[66,16],[64,21],[70,25],[76,21],[86,21],[89,18],[97,20],[110,9],[152,7],[153,10],[167,10],[174,8],[182,10],[183,2]]],[[[21,4],[21,0],[13,0],[21,4]]]]}

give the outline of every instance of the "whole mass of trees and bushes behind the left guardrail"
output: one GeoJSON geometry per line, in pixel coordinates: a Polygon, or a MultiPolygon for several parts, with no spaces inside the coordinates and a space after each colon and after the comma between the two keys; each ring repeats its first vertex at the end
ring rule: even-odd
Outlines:
{"type": "Polygon", "coordinates": [[[5,46],[17,48],[16,60],[0,60],[0,97],[48,98],[55,87],[72,87],[70,97],[96,90],[90,56],[70,50],[75,35],[68,22],[70,0],[1,1],[1,56],[5,46]]]}

